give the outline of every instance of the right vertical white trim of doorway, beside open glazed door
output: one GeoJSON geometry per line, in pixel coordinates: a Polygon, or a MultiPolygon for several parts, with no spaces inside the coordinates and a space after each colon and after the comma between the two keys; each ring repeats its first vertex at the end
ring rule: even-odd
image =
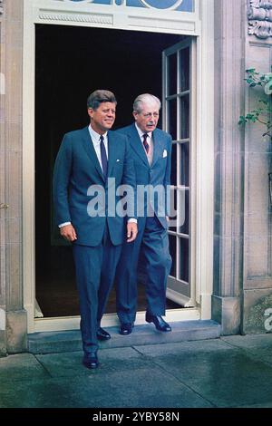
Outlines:
{"type": "Polygon", "coordinates": [[[198,40],[196,297],[201,319],[210,319],[214,220],[214,0],[201,2],[198,40]],[[205,301],[205,303],[204,303],[205,301]]]}

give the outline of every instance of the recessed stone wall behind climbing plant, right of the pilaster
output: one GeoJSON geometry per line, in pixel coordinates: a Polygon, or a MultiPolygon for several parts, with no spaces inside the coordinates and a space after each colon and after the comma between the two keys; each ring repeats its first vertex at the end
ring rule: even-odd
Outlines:
{"type": "MultiPolygon", "coordinates": [[[[260,73],[271,72],[270,6],[268,2],[248,0],[245,67],[256,68],[260,73]]],[[[249,89],[246,85],[246,111],[256,108],[257,100],[262,96],[261,89],[249,89]]],[[[272,309],[271,204],[268,188],[268,172],[272,171],[271,141],[264,140],[264,131],[265,127],[257,123],[247,124],[245,129],[243,332],[247,334],[270,331],[266,327],[266,320],[267,309],[272,309]]]]}

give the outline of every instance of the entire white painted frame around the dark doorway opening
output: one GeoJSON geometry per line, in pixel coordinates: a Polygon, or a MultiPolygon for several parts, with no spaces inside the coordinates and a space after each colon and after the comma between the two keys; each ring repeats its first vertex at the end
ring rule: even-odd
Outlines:
{"type": "MultiPolygon", "coordinates": [[[[112,2],[114,3],[114,2],[112,2]]],[[[123,2],[124,3],[124,2],[123,2]]],[[[193,76],[196,102],[192,111],[193,153],[197,159],[191,184],[195,186],[195,308],[167,311],[168,321],[210,319],[213,280],[213,173],[214,173],[214,0],[195,0],[194,13],[161,11],[125,5],[92,5],[86,1],[24,0],[23,63],[23,286],[28,333],[79,328],[79,317],[34,319],[34,60],[35,24],[61,24],[196,36],[197,73],[193,76]]],[[[102,325],[117,324],[116,315],[104,315],[102,325]]],[[[136,324],[144,323],[138,313],[136,324]]]]}

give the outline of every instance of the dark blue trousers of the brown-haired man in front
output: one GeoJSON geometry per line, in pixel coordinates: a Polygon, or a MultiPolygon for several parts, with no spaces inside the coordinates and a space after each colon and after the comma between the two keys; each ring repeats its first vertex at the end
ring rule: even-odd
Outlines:
{"type": "Polygon", "coordinates": [[[96,247],[73,245],[76,283],[80,300],[83,352],[97,351],[96,331],[112,289],[121,245],[113,246],[106,227],[96,247]]]}

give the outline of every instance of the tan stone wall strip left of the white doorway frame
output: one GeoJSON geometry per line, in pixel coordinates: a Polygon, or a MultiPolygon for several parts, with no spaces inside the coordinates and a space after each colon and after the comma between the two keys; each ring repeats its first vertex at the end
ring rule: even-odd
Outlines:
{"type": "MultiPolygon", "coordinates": [[[[21,0],[3,2],[1,23],[0,308],[5,311],[2,353],[26,350],[26,313],[22,271],[22,68],[23,7],[21,0]],[[2,26],[3,25],[3,26],[2,26]]],[[[1,330],[0,330],[1,333],[1,330]]],[[[0,334],[1,338],[1,334],[0,334]]]]}

